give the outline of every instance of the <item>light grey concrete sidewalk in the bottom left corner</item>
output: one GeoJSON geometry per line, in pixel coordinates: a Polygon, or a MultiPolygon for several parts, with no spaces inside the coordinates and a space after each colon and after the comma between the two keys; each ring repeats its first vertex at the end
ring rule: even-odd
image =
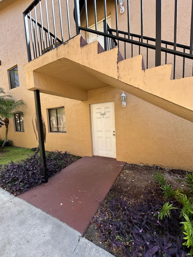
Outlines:
{"type": "Polygon", "coordinates": [[[1,257],[112,257],[81,234],[0,188],[1,257]]]}

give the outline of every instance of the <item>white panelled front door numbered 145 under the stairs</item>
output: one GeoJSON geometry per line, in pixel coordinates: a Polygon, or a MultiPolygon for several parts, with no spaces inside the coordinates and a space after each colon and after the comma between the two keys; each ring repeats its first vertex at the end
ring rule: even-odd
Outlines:
{"type": "Polygon", "coordinates": [[[114,102],[91,105],[93,153],[116,158],[114,102]]]}

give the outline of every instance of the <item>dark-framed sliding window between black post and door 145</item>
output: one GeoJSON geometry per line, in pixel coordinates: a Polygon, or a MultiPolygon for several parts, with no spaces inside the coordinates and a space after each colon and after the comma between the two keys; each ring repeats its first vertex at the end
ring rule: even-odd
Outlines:
{"type": "Polygon", "coordinates": [[[64,107],[48,109],[50,132],[66,132],[64,107]]]}

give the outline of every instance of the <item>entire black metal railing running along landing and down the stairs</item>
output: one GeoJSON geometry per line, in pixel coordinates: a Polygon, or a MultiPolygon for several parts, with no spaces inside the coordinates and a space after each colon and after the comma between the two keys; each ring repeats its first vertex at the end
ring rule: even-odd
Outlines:
{"type": "Polygon", "coordinates": [[[54,4],[54,0],[35,0],[24,11],[28,60],[43,55],[80,33],[85,39],[92,33],[103,36],[104,50],[118,47],[124,59],[143,54],[146,68],[172,63],[172,78],[193,76],[193,0],[191,0],[191,17],[189,17],[191,20],[189,45],[177,43],[178,2],[182,0],[175,0],[173,6],[172,42],[161,39],[162,1],[155,0],[155,38],[144,36],[144,15],[148,14],[143,11],[143,0],[138,1],[141,34],[131,33],[133,19],[131,22],[132,10],[129,0],[126,0],[124,14],[119,14],[117,0],[108,1],[108,4],[106,0],[74,0],[74,4],[71,2],[70,6],[68,0],[65,2],[58,0],[57,4],[56,2],[54,4]],[[114,27],[107,23],[109,10],[114,27]],[[98,29],[101,13],[103,13],[103,30],[98,29]]]}

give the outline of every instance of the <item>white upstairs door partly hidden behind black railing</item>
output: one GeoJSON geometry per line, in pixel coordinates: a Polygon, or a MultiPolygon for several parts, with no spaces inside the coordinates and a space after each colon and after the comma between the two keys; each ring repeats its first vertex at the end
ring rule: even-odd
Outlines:
{"type": "MultiPolygon", "coordinates": [[[[107,21],[107,24],[109,25],[109,27],[111,28],[111,17],[110,16],[107,17],[106,21],[107,21]]],[[[92,25],[91,27],[89,27],[89,29],[95,30],[95,25],[92,25]]],[[[103,20],[99,21],[97,23],[97,31],[104,32],[103,20]]],[[[95,40],[97,40],[100,43],[100,45],[102,45],[102,47],[104,48],[104,37],[88,32],[87,33],[87,43],[89,44],[95,40]]]]}

